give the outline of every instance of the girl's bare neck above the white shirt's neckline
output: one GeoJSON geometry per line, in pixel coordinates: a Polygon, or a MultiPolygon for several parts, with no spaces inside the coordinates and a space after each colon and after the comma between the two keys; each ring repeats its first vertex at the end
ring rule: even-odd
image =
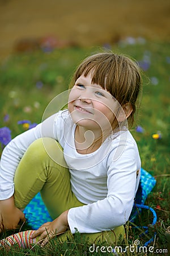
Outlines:
{"type": "Polygon", "coordinates": [[[104,140],[100,130],[86,130],[82,126],[76,126],[74,139],[76,151],[79,154],[95,152],[104,140]]]}

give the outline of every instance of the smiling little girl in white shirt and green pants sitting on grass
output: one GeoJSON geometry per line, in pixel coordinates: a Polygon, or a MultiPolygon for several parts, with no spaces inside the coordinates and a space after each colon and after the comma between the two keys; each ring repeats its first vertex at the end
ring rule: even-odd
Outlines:
{"type": "Polygon", "coordinates": [[[129,57],[98,53],[79,65],[70,88],[67,110],[3,150],[1,230],[24,220],[22,210],[39,191],[53,218],[38,230],[6,238],[9,246],[44,246],[54,234],[65,241],[76,231],[91,242],[124,239],[141,170],[128,130],[141,91],[139,67],[129,57]]]}

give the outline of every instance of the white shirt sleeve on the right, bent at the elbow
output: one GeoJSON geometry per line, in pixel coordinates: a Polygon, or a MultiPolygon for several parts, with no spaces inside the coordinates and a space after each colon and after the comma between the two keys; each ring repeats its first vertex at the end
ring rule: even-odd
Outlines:
{"type": "Polygon", "coordinates": [[[97,233],[114,229],[128,221],[139,183],[136,173],[141,164],[135,150],[131,143],[116,161],[112,154],[109,155],[107,197],[83,207],[71,208],[68,213],[71,233],[76,230],[80,233],[97,233]]]}

